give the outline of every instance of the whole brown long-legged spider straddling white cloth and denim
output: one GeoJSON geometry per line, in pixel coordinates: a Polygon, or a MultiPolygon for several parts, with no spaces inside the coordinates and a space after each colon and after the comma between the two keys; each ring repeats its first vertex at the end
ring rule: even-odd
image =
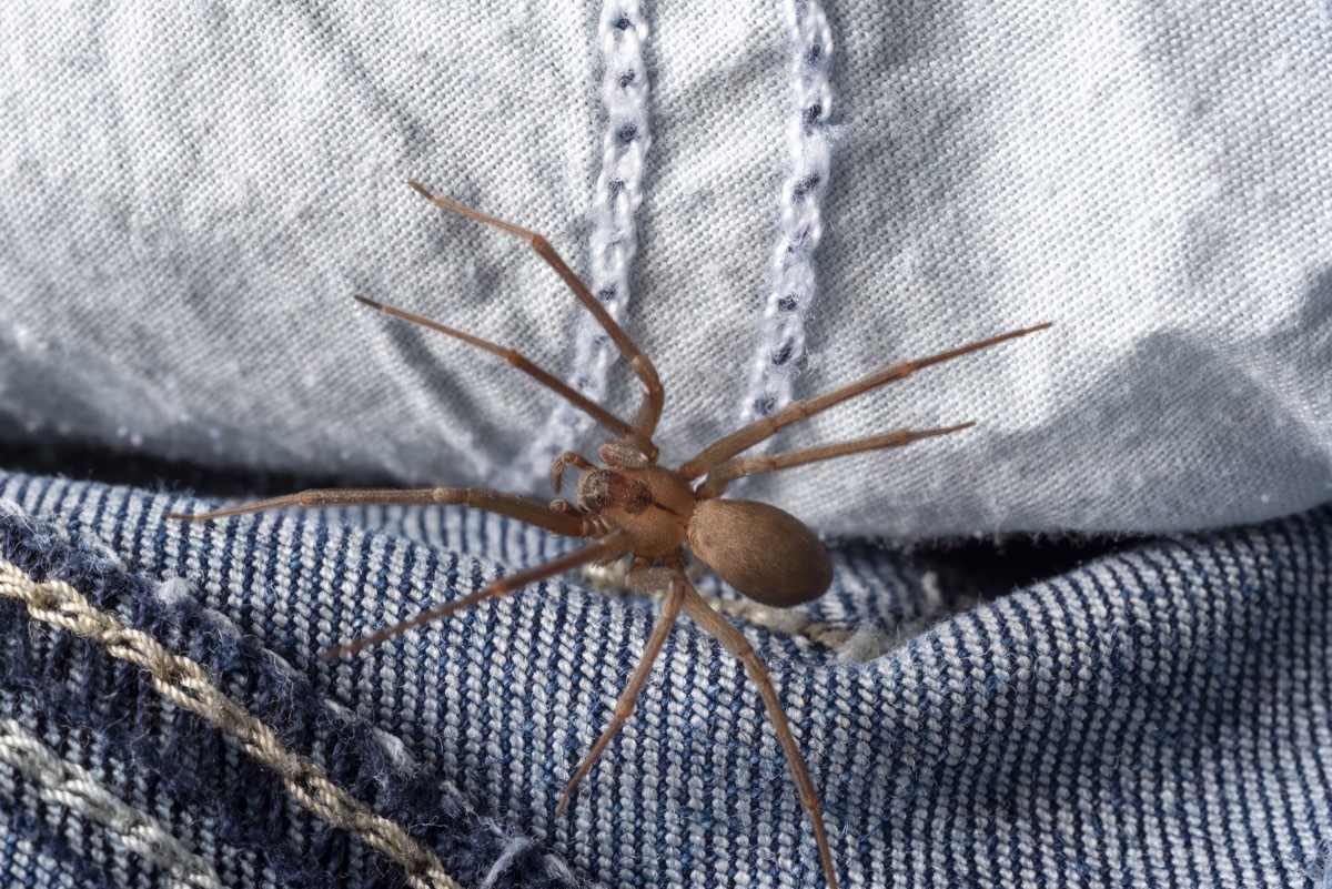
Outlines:
{"type": "Polygon", "coordinates": [[[791,735],[791,727],[786,721],[786,713],[782,711],[777,689],[773,685],[773,680],[769,679],[767,668],[739,629],[714,611],[685,576],[683,547],[689,544],[690,551],[698,560],[721,575],[735,590],[765,606],[785,608],[818,599],[827,592],[832,582],[832,563],[819,539],[799,519],[775,506],[754,500],[723,499],[722,495],[726,492],[727,486],[745,475],[818,463],[834,456],[859,454],[862,451],[902,447],[923,438],[960,431],[972,426],[972,423],[959,423],[958,426],[943,429],[902,430],[854,442],[822,444],[789,454],[762,454],[753,456],[741,456],[741,454],[770,438],[778,430],[819,414],[834,405],[863,395],[879,386],[904,379],[922,367],[951,361],[952,358],[994,346],[1007,339],[1024,337],[1048,327],[1050,323],[1012,330],[927,358],[890,365],[847,386],[806,402],[794,402],[774,414],[757,419],[730,435],[713,442],[686,460],[679,468],[673,470],[657,464],[658,451],[653,443],[653,433],[657,430],[657,421],[661,418],[662,403],[666,398],[653,362],[639,351],[629,334],[606,313],[587,289],[587,285],[573,273],[550,244],[535,232],[529,232],[480,210],[436,197],[420,182],[409,180],[409,184],[436,206],[460,213],[478,222],[485,222],[522,238],[565,279],[569,289],[573,290],[583,307],[597,319],[597,323],[601,325],[602,330],[615,343],[619,354],[629,362],[634,374],[642,381],[643,398],[634,414],[634,419],[626,423],[511,349],[461,330],[454,330],[453,327],[446,327],[410,311],[386,306],[362,295],[357,295],[356,298],[372,309],[378,309],[396,318],[438,330],[440,333],[492,351],[537,379],[542,386],[562,395],[615,435],[615,438],[602,444],[598,450],[598,456],[606,464],[605,468],[573,451],[561,454],[550,467],[550,480],[557,499],[549,504],[488,488],[436,487],[408,491],[393,488],[310,490],[194,515],[169,512],[166,518],[182,522],[204,522],[286,506],[452,503],[507,515],[562,536],[594,538],[591,543],[582,548],[534,568],[501,578],[480,592],[454,599],[448,604],[424,611],[416,618],[386,627],[345,645],[332,648],[324,653],[325,660],[358,652],[413,627],[420,627],[486,599],[494,599],[521,590],[570,568],[589,563],[603,564],[626,555],[630,556],[629,588],[641,594],[665,592],[662,615],[653,627],[638,667],[630,676],[623,692],[621,692],[619,700],[615,703],[615,713],[610,720],[610,725],[606,727],[606,731],[602,732],[591,751],[574,771],[563,796],[559,799],[555,813],[559,814],[563,812],[578,781],[587,775],[593,763],[597,761],[597,757],[606,749],[615,732],[629,719],[643,685],[647,683],[653,663],[666,644],[667,635],[675,625],[675,620],[681,612],[685,612],[705,632],[739,659],[758,688],[758,693],[763,699],[763,705],[767,708],[769,719],[773,723],[773,729],[777,732],[777,740],[791,768],[791,777],[795,781],[801,805],[805,806],[810,821],[814,824],[814,838],[819,848],[819,858],[823,861],[827,885],[836,889],[836,873],[832,866],[832,853],[829,850],[823,814],[819,810],[819,797],[805,768],[805,760],[795,744],[795,737],[791,735]],[[569,467],[581,472],[577,488],[577,504],[559,498],[559,483],[565,470],[569,467]],[[693,486],[698,479],[702,479],[702,482],[693,486]]]}

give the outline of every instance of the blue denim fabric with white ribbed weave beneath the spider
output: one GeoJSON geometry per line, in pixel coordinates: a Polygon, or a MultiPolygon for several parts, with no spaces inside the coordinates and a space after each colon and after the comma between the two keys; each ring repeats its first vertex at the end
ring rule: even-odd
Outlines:
{"type": "MultiPolygon", "coordinates": [[[[0,496],[4,560],[201,664],[465,885],[822,882],[754,689],[687,623],[554,816],[651,603],[547,584],[318,660],[563,546],[541,532],[458,510],[181,526],[161,518],[180,499],[23,475],[0,496]]],[[[900,639],[930,616],[939,578],[871,546],[834,560],[831,594],[807,610],[818,632],[741,625],[791,716],[843,885],[1327,880],[1332,510],[1143,544],[900,639]]],[[[220,884],[404,881],[108,645],[8,599],[0,619],[0,713],[152,816],[220,884]]],[[[0,805],[9,881],[172,881],[4,756],[0,805]]]]}

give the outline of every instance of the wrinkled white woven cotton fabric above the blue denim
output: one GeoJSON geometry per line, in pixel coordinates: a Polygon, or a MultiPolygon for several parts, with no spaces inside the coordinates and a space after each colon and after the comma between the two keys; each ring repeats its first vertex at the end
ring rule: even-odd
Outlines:
{"type": "MultiPolygon", "coordinates": [[[[769,450],[974,429],[745,496],[899,538],[1203,528],[1332,499],[1325,4],[818,5],[831,156],[790,397],[1055,327],[769,450]]],[[[622,317],[667,386],[667,462],[755,391],[797,164],[787,15],[641,11],[622,317]]],[[[587,274],[605,28],[566,3],[0,5],[0,434],[546,495],[533,442],[555,397],[350,297],[586,371],[555,275],[404,180],[587,274]]],[[[631,413],[622,363],[605,385],[631,413]]]]}

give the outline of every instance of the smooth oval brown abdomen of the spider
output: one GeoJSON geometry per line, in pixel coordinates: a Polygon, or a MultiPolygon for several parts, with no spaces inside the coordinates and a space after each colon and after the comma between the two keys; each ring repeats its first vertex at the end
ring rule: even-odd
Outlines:
{"type": "Polygon", "coordinates": [[[819,539],[770,503],[701,500],[686,535],[703,564],[765,606],[813,602],[832,583],[832,562],[819,539]]]}

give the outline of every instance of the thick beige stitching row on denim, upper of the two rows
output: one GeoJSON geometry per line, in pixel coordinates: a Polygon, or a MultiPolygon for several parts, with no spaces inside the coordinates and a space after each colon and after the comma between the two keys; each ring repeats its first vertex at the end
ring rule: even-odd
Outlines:
{"type": "Polygon", "coordinates": [[[272,728],[214,688],[193,660],[172,653],[148,633],[99,611],[68,583],[37,583],[4,559],[0,559],[0,596],[23,602],[33,620],[96,641],[113,657],[144,668],[159,692],[236,737],[241,749],[277,772],[301,805],[333,826],[360,834],[368,845],[402,865],[413,886],[461,889],[433,852],[329,781],[318,765],[286,749],[272,728]]]}

